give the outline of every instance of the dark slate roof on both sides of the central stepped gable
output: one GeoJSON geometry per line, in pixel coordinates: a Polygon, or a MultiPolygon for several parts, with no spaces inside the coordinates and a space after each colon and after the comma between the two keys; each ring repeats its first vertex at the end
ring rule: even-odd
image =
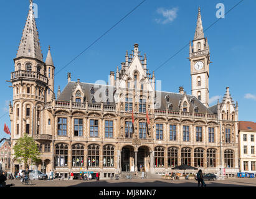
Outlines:
{"type": "MultiPolygon", "coordinates": [[[[95,92],[100,89],[102,86],[107,86],[107,87],[112,87],[109,85],[95,85],[93,83],[81,83],[80,86],[83,89],[83,93],[88,100],[88,103],[92,103],[92,97],[90,90],[94,88],[95,92]],[[98,86],[98,88],[97,88],[98,86]]],[[[65,86],[64,90],[62,93],[60,93],[60,96],[57,98],[57,101],[70,101],[70,98],[72,97],[72,93],[77,88],[77,82],[75,81],[70,81],[67,86],[65,86]]],[[[115,87],[113,88],[113,91],[115,91],[115,87]]],[[[156,96],[158,96],[160,93],[161,95],[161,106],[157,109],[162,109],[165,110],[168,108],[169,104],[173,104],[173,111],[179,111],[179,101],[181,101],[184,98],[184,95],[179,94],[179,93],[171,93],[171,92],[165,92],[165,91],[156,91],[156,96]],[[169,96],[169,101],[166,101],[166,96],[169,96]]],[[[192,95],[186,95],[189,103],[189,112],[192,112],[195,107],[198,108],[198,113],[208,113],[208,114],[214,114],[211,109],[206,108],[204,104],[199,101],[195,96],[192,95]],[[191,99],[194,99],[194,104],[191,103],[191,99]]],[[[97,103],[96,104],[100,104],[97,103]]],[[[104,103],[107,104],[107,103],[104,103]]],[[[115,105],[115,99],[114,102],[110,102],[110,105],[115,105]]]]}

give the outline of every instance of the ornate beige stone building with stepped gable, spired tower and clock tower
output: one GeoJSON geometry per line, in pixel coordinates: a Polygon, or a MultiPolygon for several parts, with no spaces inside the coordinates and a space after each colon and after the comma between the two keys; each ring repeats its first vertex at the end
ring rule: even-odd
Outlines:
{"type": "MultiPolygon", "coordinates": [[[[181,164],[216,174],[221,168],[238,172],[238,104],[227,87],[222,101],[209,107],[211,61],[200,8],[189,47],[192,95],[183,87],[178,93],[157,91],[156,76],[141,54],[138,44],[126,51],[109,85],[72,81],[68,73],[55,98],[55,65],[50,48],[43,59],[31,4],[11,73],[12,146],[24,134],[34,137],[42,153],[36,168],[65,177],[81,168],[102,177],[141,167],[169,174],[181,164]]],[[[12,171],[22,168],[13,151],[11,164],[12,171]]]]}

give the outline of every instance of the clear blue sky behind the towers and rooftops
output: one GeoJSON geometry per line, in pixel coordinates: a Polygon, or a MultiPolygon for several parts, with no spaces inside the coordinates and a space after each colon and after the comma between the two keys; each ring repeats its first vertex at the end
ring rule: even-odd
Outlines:
{"type": "MultiPolygon", "coordinates": [[[[72,80],[94,83],[108,81],[111,70],[125,60],[125,51],[133,50],[138,43],[141,53],[146,53],[148,68],[153,71],[174,55],[189,40],[194,39],[197,7],[201,7],[204,29],[216,18],[216,4],[221,2],[228,11],[240,0],[179,0],[145,1],[138,9],[108,32],[83,55],[55,76],[55,91],[67,84],[67,72],[72,80]]],[[[39,7],[37,27],[44,58],[47,47],[51,46],[55,72],[64,67],[95,39],[130,12],[138,0],[44,0],[34,1],[39,7]],[[61,3],[60,3],[61,2],[61,3]]],[[[10,73],[14,70],[13,58],[21,40],[29,0],[0,2],[0,137],[4,123],[10,126],[8,103],[12,100],[10,73]],[[6,114],[5,116],[3,116],[6,114]]],[[[230,94],[239,102],[239,120],[256,122],[256,1],[244,0],[239,6],[220,19],[205,32],[211,48],[209,97],[215,99],[230,94]]],[[[191,93],[189,47],[182,50],[166,65],[156,70],[157,80],[162,81],[162,90],[178,92],[184,86],[191,93]]]]}

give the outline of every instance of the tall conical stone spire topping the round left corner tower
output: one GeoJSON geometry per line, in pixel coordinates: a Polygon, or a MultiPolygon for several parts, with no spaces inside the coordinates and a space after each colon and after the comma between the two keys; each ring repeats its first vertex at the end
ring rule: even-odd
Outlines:
{"type": "Polygon", "coordinates": [[[29,14],[22,32],[21,43],[17,51],[17,57],[37,58],[43,61],[42,50],[39,43],[39,34],[37,31],[36,20],[33,12],[33,2],[30,1],[29,14]]]}

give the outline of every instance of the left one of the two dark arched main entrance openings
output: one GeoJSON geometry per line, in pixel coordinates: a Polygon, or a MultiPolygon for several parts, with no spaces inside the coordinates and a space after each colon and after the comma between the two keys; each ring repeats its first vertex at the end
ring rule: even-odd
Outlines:
{"type": "Polygon", "coordinates": [[[125,146],[121,150],[121,171],[134,172],[134,148],[132,146],[125,146]]]}

